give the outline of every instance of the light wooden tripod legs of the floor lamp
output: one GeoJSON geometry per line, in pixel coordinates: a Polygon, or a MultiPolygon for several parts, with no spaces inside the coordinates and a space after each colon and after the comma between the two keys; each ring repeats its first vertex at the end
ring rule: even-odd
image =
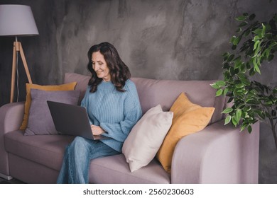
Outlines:
{"type": "Polygon", "coordinates": [[[24,55],[24,52],[23,52],[21,42],[18,42],[18,41],[13,42],[13,65],[12,65],[12,71],[11,71],[11,98],[10,98],[10,103],[13,103],[14,86],[15,86],[14,83],[16,81],[16,57],[17,57],[16,52],[20,52],[20,54],[21,54],[21,59],[22,59],[24,69],[25,69],[26,74],[27,74],[28,82],[31,83],[31,84],[33,83],[32,79],[31,79],[29,69],[28,69],[28,65],[27,65],[27,62],[26,62],[26,58],[25,58],[25,55],[24,55]]]}

